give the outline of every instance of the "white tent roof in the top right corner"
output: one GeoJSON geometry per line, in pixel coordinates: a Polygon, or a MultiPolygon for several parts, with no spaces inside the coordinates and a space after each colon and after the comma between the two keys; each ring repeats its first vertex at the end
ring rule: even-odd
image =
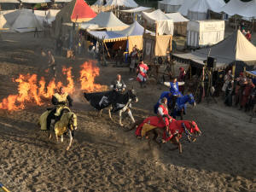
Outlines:
{"type": "Polygon", "coordinates": [[[241,15],[243,17],[256,17],[256,1],[241,2],[240,0],[232,0],[226,3],[220,11],[228,15],[241,15]]]}

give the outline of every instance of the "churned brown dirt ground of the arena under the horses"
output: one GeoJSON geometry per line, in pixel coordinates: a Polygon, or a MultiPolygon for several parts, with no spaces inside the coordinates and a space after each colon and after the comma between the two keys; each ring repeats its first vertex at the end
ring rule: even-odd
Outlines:
{"type": "MultiPolygon", "coordinates": [[[[33,33],[2,36],[1,101],[17,94],[12,79],[19,73],[45,75],[47,64],[40,49],[55,46],[52,39],[33,38],[33,33]]],[[[86,60],[55,59],[58,69],[73,67],[74,79],[86,60]]],[[[100,68],[96,83],[109,85],[120,73],[128,87],[135,87],[139,98],[132,108],[135,119],[153,114],[154,103],[167,90],[155,84],[140,89],[129,80],[134,75],[125,67],[100,68]]],[[[57,79],[63,78],[58,74],[57,79]]],[[[128,115],[125,127],[120,127],[106,112],[97,118],[96,110],[78,96],[72,109],[79,129],[67,152],[67,137],[56,143],[39,131],[38,117],[47,107],[27,103],[24,110],[0,111],[0,182],[10,191],[256,191],[256,119],[248,123],[248,113],[225,107],[221,99],[188,109],[185,119],[194,119],[203,134],[195,143],[183,139],[183,154],[171,151],[171,143],[149,148],[145,139],[137,140],[134,131],[127,131],[128,115]]],[[[117,122],[117,114],[114,119],[117,122]]]]}

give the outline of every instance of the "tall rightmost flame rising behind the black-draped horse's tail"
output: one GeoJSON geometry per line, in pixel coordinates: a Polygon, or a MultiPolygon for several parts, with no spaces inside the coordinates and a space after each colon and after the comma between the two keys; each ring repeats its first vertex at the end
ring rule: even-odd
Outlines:
{"type": "Polygon", "coordinates": [[[81,90],[86,90],[88,92],[108,90],[108,86],[94,83],[96,76],[100,75],[99,67],[94,67],[92,62],[84,62],[80,67],[82,68],[79,78],[81,90]]]}

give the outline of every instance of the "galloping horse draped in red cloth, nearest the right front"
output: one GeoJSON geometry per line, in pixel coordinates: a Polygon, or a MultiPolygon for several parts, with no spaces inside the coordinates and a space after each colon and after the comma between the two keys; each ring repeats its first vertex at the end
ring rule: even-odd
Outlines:
{"type": "Polygon", "coordinates": [[[151,141],[154,141],[159,146],[161,146],[161,143],[157,141],[157,138],[163,136],[163,143],[169,141],[170,143],[177,145],[176,148],[171,149],[174,150],[178,148],[180,154],[183,153],[182,144],[180,142],[180,138],[182,137],[183,132],[185,132],[189,142],[195,142],[195,137],[201,136],[201,131],[196,125],[195,121],[172,119],[172,123],[169,125],[169,129],[172,132],[171,137],[166,137],[164,127],[165,125],[159,120],[159,117],[153,116],[137,121],[131,127],[130,131],[137,128],[137,138],[142,138],[145,136],[148,139],[149,146],[151,141]],[[192,136],[194,136],[194,138],[192,138],[192,136]]]}

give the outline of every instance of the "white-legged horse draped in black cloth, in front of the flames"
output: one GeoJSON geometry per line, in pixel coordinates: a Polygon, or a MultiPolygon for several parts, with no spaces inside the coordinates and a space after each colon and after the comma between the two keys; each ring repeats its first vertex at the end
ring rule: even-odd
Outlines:
{"type": "Polygon", "coordinates": [[[96,108],[99,113],[98,116],[101,117],[102,110],[104,108],[108,109],[109,118],[113,121],[111,112],[119,112],[119,125],[122,124],[122,113],[127,111],[131,118],[132,123],[135,123],[133,115],[131,113],[131,102],[138,102],[135,90],[127,90],[125,94],[119,94],[115,91],[97,92],[97,93],[85,93],[85,99],[90,102],[90,105],[96,108]]]}

